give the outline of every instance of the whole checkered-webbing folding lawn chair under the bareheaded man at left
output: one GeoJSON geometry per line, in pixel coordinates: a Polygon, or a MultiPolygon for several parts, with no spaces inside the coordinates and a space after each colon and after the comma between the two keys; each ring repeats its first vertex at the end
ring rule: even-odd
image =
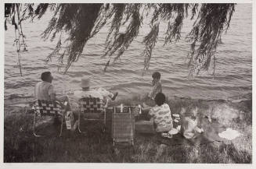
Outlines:
{"type": "Polygon", "coordinates": [[[61,129],[59,132],[59,136],[62,135],[63,130],[63,117],[64,117],[64,110],[63,107],[59,104],[58,101],[48,101],[48,100],[34,100],[34,136],[39,137],[39,135],[36,134],[35,128],[36,128],[36,121],[37,117],[61,117],[61,129]]]}

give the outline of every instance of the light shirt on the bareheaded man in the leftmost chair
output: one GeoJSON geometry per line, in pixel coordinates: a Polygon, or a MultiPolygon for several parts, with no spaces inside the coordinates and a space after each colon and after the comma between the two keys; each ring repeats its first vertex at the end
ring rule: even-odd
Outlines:
{"type": "Polygon", "coordinates": [[[52,83],[39,82],[34,87],[34,97],[38,100],[51,100],[50,95],[56,93],[53,89],[52,83]]]}

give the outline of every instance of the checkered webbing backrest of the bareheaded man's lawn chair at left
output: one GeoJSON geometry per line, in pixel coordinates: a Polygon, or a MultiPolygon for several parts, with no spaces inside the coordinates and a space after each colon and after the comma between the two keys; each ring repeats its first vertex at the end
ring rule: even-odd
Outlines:
{"type": "Polygon", "coordinates": [[[34,100],[34,111],[38,116],[62,115],[62,107],[57,101],[34,100]]]}

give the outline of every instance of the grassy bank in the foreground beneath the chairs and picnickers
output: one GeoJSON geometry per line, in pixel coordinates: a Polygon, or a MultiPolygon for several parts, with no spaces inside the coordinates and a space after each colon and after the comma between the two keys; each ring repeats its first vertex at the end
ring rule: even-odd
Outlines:
{"type": "MultiPolygon", "coordinates": [[[[141,103],[135,98],[116,102],[141,103]]],[[[239,163],[251,164],[251,104],[227,103],[222,100],[202,101],[188,99],[168,100],[172,113],[181,107],[195,104],[200,112],[211,109],[211,115],[225,126],[243,132],[232,141],[213,142],[196,146],[167,146],[156,142],[150,135],[135,135],[135,146],[117,145],[113,148],[110,126],[103,134],[98,124],[87,123],[87,136],[64,130],[58,137],[59,126],[41,125],[45,137],[32,135],[33,114],[5,112],[4,162],[94,162],[94,163],[239,163]],[[214,107],[214,108],[212,108],[214,107]],[[222,114],[219,114],[222,111],[222,114]],[[233,112],[229,112],[233,111],[233,112]],[[230,115],[233,113],[236,115],[230,115]],[[227,114],[226,116],[223,114],[227,114]],[[228,117],[228,118],[227,118],[228,117]]]]}

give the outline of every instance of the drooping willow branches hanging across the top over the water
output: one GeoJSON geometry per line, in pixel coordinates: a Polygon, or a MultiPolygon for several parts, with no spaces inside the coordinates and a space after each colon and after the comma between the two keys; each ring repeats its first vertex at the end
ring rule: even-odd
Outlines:
{"type": "MultiPolygon", "coordinates": [[[[5,17],[15,12],[14,4],[5,4],[5,17]],[[7,12],[6,12],[7,11],[7,12]],[[8,13],[9,12],[9,13],[8,13]]],[[[17,5],[17,4],[16,4],[17,5]]],[[[60,36],[52,55],[58,55],[62,48],[62,32],[67,33],[67,48],[59,54],[59,61],[67,57],[66,70],[78,61],[87,41],[99,30],[110,23],[106,36],[104,56],[114,56],[114,61],[121,57],[138,36],[143,21],[150,19],[150,32],[142,41],[144,69],[148,69],[153,48],[159,36],[161,21],[168,23],[164,44],[181,39],[183,20],[193,19],[191,31],[186,36],[191,45],[188,54],[189,68],[193,73],[200,69],[209,69],[211,61],[215,65],[215,52],[221,42],[222,33],[228,30],[235,11],[235,4],[18,4],[23,5],[22,19],[38,18],[47,10],[54,12],[49,26],[42,33],[51,40],[60,36]],[[125,26],[124,32],[121,26],[125,26]]],[[[52,56],[50,55],[49,58],[52,56]]]]}

